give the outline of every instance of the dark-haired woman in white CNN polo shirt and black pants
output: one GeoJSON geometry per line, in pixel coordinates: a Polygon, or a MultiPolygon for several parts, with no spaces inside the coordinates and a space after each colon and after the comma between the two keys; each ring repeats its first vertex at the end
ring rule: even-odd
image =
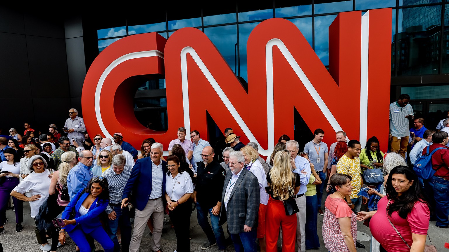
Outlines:
{"type": "Polygon", "coordinates": [[[176,252],[190,252],[189,225],[192,213],[190,196],[194,192],[194,187],[190,175],[179,167],[180,161],[176,155],[167,157],[165,199],[170,210],[168,216],[175,227],[176,252]]]}

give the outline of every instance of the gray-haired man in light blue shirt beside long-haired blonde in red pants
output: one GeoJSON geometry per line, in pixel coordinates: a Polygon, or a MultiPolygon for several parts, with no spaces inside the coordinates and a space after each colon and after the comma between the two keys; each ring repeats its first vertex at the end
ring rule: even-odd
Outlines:
{"type": "Polygon", "coordinates": [[[286,142],[286,148],[290,152],[290,162],[293,168],[293,172],[299,174],[301,181],[301,187],[299,187],[298,193],[293,196],[296,204],[298,205],[299,212],[296,213],[296,251],[304,252],[306,250],[306,237],[305,237],[305,225],[306,225],[306,196],[304,193],[307,191],[306,185],[309,182],[310,163],[302,156],[298,156],[299,143],[295,140],[286,142]]]}

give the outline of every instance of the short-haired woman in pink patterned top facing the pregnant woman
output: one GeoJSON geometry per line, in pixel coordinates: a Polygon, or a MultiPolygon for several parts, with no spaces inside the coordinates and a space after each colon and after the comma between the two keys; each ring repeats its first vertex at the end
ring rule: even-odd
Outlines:
{"type": "Polygon", "coordinates": [[[346,202],[351,195],[351,176],[337,173],[330,178],[334,193],[327,196],[324,204],[323,239],[330,252],[356,252],[356,214],[346,202]]]}

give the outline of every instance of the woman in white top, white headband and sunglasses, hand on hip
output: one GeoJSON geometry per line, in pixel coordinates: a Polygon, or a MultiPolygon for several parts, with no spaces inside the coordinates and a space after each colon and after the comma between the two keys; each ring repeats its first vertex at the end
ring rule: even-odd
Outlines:
{"type": "MultiPolygon", "coordinates": [[[[28,147],[28,145],[26,146],[28,147]]],[[[44,252],[52,250],[52,247],[48,245],[47,238],[45,237],[45,230],[39,230],[37,228],[36,215],[39,213],[39,207],[44,203],[45,199],[48,197],[48,188],[50,187],[50,178],[48,175],[52,174],[53,171],[47,169],[47,161],[40,156],[31,156],[28,160],[27,169],[30,170],[30,174],[23,178],[23,180],[18,184],[17,187],[11,191],[11,196],[18,198],[19,200],[29,201],[31,208],[31,217],[35,220],[35,232],[38,243],[41,244],[40,249],[44,252]],[[28,191],[31,197],[24,196],[23,194],[28,191]]],[[[53,230],[52,230],[53,231],[53,230]]],[[[56,251],[56,246],[58,243],[57,232],[52,233],[52,243],[56,251]]]]}

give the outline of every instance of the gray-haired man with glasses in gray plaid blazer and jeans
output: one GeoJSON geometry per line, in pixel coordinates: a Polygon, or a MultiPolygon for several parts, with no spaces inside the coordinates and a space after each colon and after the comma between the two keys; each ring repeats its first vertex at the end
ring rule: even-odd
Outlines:
{"type": "Polygon", "coordinates": [[[228,221],[228,230],[236,252],[257,252],[257,220],[260,191],[257,178],[244,168],[241,152],[229,153],[229,170],[226,172],[221,197],[220,222],[228,221]]]}

